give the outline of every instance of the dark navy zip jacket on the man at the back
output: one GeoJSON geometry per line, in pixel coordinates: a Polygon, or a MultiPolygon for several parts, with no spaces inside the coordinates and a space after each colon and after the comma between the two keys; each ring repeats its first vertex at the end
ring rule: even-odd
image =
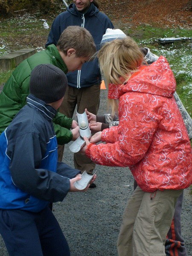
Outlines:
{"type": "MultiPolygon", "coordinates": [[[[75,4],[72,3],[67,7],[67,11],[59,14],[53,21],[45,47],[50,44],[56,45],[61,33],[67,26],[82,26],[86,28],[93,36],[97,50],[99,50],[102,36],[105,34],[106,29],[114,29],[108,16],[99,12],[99,9],[93,3],[90,4],[90,8],[84,14],[78,12],[75,4]]],[[[67,80],[70,86],[79,89],[94,84],[100,85],[101,73],[98,60],[86,62],[81,70],[67,73],[67,80]]]]}

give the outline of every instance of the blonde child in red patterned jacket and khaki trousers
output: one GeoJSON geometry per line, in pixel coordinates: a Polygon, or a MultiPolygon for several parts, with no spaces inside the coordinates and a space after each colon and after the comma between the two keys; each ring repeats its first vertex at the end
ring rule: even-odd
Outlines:
{"type": "Polygon", "coordinates": [[[175,78],[163,56],[143,66],[143,54],[129,37],[106,43],[98,58],[119,125],[84,138],[81,151],[97,164],[128,166],[137,181],[123,215],[119,256],[164,256],[177,198],[192,184],[192,151],[173,96],[175,78]],[[94,144],[99,141],[105,143],[94,144]]]}

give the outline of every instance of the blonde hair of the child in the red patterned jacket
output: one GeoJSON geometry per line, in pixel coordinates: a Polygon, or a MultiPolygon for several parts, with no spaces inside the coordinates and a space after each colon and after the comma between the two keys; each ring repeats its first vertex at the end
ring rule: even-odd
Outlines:
{"type": "MultiPolygon", "coordinates": [[[[143,53],[137,43],[128,36],[105,43],[97,57],[107,86],[128,81],[143,62],[143,53]]],[[[118,100],[108,99],[108,105],[111,106],[113,116],[118,111],[118,100]]]]}

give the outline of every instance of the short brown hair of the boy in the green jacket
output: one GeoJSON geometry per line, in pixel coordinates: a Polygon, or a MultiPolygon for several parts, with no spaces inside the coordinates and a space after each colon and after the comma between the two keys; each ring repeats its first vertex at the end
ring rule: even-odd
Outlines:
{"type": "Polygon", "coordinates": [[[80,26],[68,26],[62,32],[57,47],[67,55],[70,48],[76,50],[77,57],[90,58],[96,52],[96,45],[90,32],[80,26]]]}

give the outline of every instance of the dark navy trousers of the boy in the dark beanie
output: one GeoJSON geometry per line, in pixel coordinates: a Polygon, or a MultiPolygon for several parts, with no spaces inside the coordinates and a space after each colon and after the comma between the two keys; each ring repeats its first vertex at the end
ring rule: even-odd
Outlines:
{"type": "Polygon", "coordinates": [[[41,212],[0,209],[0,233],[9,256],[70,256],[67,240],[49,207],[41,212]]]}

